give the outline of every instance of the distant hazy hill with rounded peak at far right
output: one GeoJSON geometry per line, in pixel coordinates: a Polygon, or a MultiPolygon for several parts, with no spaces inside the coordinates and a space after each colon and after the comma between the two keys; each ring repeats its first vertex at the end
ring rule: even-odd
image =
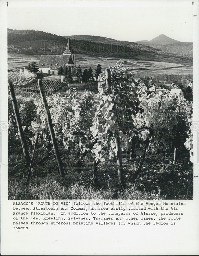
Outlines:
{"type": "Polygon", "coordinates": [[[137,41],[136,43],[160,49],[165,52],[165,54],[176,54],[187,58],[193,58],[193,42],[180,42],[168,36],[159,35],[150,41],[142,40],[137,41]]]}

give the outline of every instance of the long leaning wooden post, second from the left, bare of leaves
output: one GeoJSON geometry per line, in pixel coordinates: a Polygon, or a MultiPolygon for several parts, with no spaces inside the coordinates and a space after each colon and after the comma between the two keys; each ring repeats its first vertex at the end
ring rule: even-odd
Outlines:
{"type": "Polygon", "coordinates": [[[43,86],[42,86],[42,81],[40,79],[38,79],[38,86],[39,86],[40,94],[41,94],[42,101],[43,101],[43,104],[44,104],[44,108],[45,108],[45,111],[46,111],[46,118],[47,118],[47,122],[48,122],[48,128],[49,128],[49,131],[50,131],[50,134],[51,134],[53,149],[54,149],[54,153],[55,153],[55,156],[57,158],[57,163],[58,163],[58,166],[59,166],[59,173],[62,177],[65,177],[64,169],[63,169],[63,165],[62,165],[62,161],[61,161],[61,156],[60,156],[60,153],[59,153],[59,149],[58,149],[56,138],[55,138],[55,132],[54,132],[54,129],[53,129],[53,122],[52,122],[52,119],[51,119],[51,113],[50,113],[48,103],[47,103],[47,100],[46,100],[46,95],[44,93],[44,89],[43,89],[43,86]]]}

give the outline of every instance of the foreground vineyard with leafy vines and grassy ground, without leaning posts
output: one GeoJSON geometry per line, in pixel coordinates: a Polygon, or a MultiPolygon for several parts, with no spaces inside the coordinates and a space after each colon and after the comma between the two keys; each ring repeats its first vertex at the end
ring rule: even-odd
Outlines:
{"type": "Polygon", "coordinates": [[[101,74],[96,94],[70,88],[47,97],[65,177],[42,98],[16,96],[30,155],[37,145],[28,183],[9,96],[9,199],[192,199],[192,102],[146,93],[131,77],[117,66],[101,74]]]}

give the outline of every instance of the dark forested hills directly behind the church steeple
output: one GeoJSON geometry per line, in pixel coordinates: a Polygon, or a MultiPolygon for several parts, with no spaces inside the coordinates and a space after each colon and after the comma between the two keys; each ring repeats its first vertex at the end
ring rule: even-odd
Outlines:
{"type": "MultiPolygon", "coordinates": [[[[70,36],[70,39],[76,54],[144,60],[155,60],[160,55],[160,61],[162,57],[167,58],[169,56],[161,50],[135,42],[117,41],[99,36],[70,36]]],[[[52,33],[8,28],[8,52],[27,55],[63,54],[67,42],[68,37],[58,36],[52,33]]],[[[172,62],[175,62],[175,59],[172,62]]]]}

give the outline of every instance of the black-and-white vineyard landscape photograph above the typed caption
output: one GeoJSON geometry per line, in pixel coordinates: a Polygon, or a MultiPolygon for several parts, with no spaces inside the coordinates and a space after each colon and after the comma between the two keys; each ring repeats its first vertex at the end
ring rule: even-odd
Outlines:
{"type": "Polygon", "coordinates": [[[8,3],[8,199],[193,199],[192,18],[8,3]]]}

